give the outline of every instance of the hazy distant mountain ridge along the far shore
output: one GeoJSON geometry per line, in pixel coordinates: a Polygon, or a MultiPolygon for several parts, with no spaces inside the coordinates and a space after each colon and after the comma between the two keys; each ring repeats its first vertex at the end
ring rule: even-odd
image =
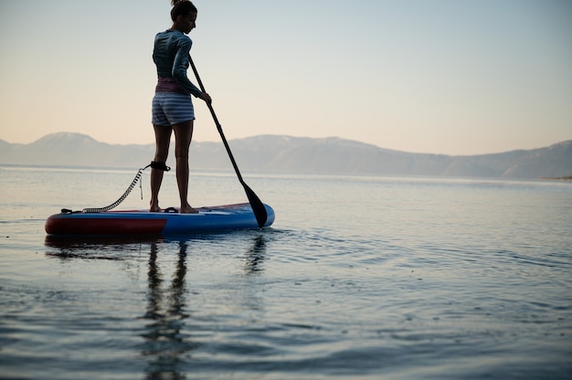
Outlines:
{"type": "MultiPolygon", "coordinates": [[[[460,155],[407,153],[337,137],[260,135],[228,142],[241,172],[540,178],[572,174],[572,140],[544,148],[460,155]]],[[[174,145],[174,144],[172,144],[174,145]]],[[[222,142],[193,142],[192,170],[232,171],[222,142]]],[[[29,144],[0,140],[0,164],[139,168],[154,144],[109,144],[71,132],[29,144]]],[[[167,164],[174,165],[174,153],[167,164]]]]}

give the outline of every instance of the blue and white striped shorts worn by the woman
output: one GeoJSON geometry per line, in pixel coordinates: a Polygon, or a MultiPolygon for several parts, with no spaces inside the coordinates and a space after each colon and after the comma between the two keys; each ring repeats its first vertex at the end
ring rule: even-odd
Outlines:
{"type": "Polygon", "coordinates": [[[156,92],[153,98],[153,125],[171,126],[195,120],[191,95],[156,92]]]}

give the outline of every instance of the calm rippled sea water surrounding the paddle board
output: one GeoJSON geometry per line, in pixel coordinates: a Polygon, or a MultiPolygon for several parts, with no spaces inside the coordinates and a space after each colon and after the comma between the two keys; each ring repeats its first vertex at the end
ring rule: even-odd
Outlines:
{"type": "Polygon", "coordinates": [[[46,237],[135,172],[0,167],[1,378],[572,378],[571,183],[245,174],[270,228],[46,237]]]}

